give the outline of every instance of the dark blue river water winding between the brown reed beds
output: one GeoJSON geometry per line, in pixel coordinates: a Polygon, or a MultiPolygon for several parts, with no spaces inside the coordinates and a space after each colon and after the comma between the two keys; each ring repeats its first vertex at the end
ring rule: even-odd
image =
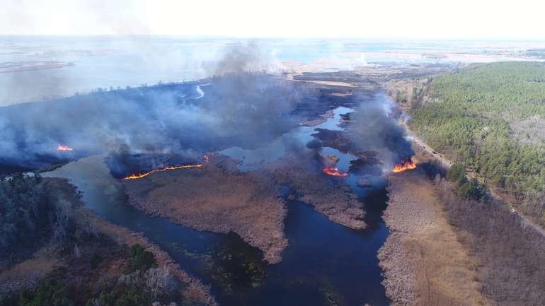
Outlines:
{"type": "MultiPolygon", "coordinates": [[[[338,114],[324,125],[337,121],[338,114]]],[[[309,129],[303,132],[301,137],[306,139],[309,129]]],[[[338,154],[340,169],[348,170],[343,168],[353,158],[332,148],[326,150],[338,154]]],[[[381,220],[387,200],[384,182],[374,189],[360,189],[355,177],[347,179],[365,204],[369,225],[365,230],[350,230],[307,204],[287,201],[289,246],[282,261],[271,265],[262,261],[259,249],[234,233],[191,230],[127,205],[121,184],[110,175],[101,155],[74,161],[44,176],[68,178],[83,192],[89,208],[112,223],[143,233],[182,269],[210,284],[221,305],[389,305],[377,259],[389,233],[381,220]]]]}

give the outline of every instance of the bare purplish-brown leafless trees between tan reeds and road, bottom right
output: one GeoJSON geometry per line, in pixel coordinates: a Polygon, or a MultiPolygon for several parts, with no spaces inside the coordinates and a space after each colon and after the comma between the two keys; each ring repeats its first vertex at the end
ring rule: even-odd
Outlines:
{"type": "MultiPolygon", "coordinates": [[[[454,179],[456,173],[447,172],[447,177],[454,179]]],[[[478,260],[481,291],[494,305],[545,305],[545,237],[504,204],[459,196],[461,185],[453,192],[439,175],[435,182],[459,241],[478,260]]]]}

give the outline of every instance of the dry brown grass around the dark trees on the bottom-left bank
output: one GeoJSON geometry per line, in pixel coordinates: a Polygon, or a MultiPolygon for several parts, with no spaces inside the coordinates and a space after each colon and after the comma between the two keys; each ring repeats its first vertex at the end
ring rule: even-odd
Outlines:
{"type": "MultiPolygon", "coordinates": [[[[186,286],[181,290],[181,294],[187,300],[195,302],[196,305],[217,306],[210,288],[181,270],[180,266],[159,246],[149,242],[143,235],[109,223],[90,211],[81,204],[74,187],[67,180],[57,178],[45,180],[47,184],[54,184],[55,190],[62,192],[64,199],[73,202],[76,208],[72,216],[76,228],[96,235],[90,235],[85,237],[84,241],[76,242],[76,245],[79,245],[81,258],[76,257],[74,252],[65,252],[66,249],[60,251],[59,246],[42,247],[31,259],[0,271],[0,295],[13,293],[23,288],[35,288],[43,278],[53,277],[66,279],[74,286],[76,295],[86,296],[89,288],[92,288],[98,280],[103,277],[116,278],[120,274],[126,258],[123,257],[124,252],[118,245],[139,244],[154,254],[159,266],[167,266],[173,275],[185,283],[186,286]],[[90,269],[88,259],[95,252],[101,254],[101,266],[98,269],[90,269]]],[[[74,247],[74,245],[64,245],[64,247],[68,246],[74,247]]]]}

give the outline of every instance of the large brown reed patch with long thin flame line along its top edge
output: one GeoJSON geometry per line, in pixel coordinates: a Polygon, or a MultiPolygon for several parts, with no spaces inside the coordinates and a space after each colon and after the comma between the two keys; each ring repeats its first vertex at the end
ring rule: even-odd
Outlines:
{"type": "Polygon", "coordinates": [[[233,161],[212,155],[198,169],[156,173],[125,181],[132,204],[181,225],[217,233],[233,231],[263,250],[264,260],[280,261],[284,237],[284,201],[274,182],[236,170],[233,161]]]}

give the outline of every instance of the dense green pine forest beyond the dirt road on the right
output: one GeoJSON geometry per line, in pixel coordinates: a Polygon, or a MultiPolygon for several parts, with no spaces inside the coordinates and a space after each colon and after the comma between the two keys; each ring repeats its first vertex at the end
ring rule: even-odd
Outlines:
{"type": "Polygon", "coordinates": [[[542,80],[545,65],[536,63],[489,64],[437,76],[428,102],[410,110],[408,125],[545,224],[545,144],[517,141],[510,127],[529,117],[545,120],[542,80]]]}

